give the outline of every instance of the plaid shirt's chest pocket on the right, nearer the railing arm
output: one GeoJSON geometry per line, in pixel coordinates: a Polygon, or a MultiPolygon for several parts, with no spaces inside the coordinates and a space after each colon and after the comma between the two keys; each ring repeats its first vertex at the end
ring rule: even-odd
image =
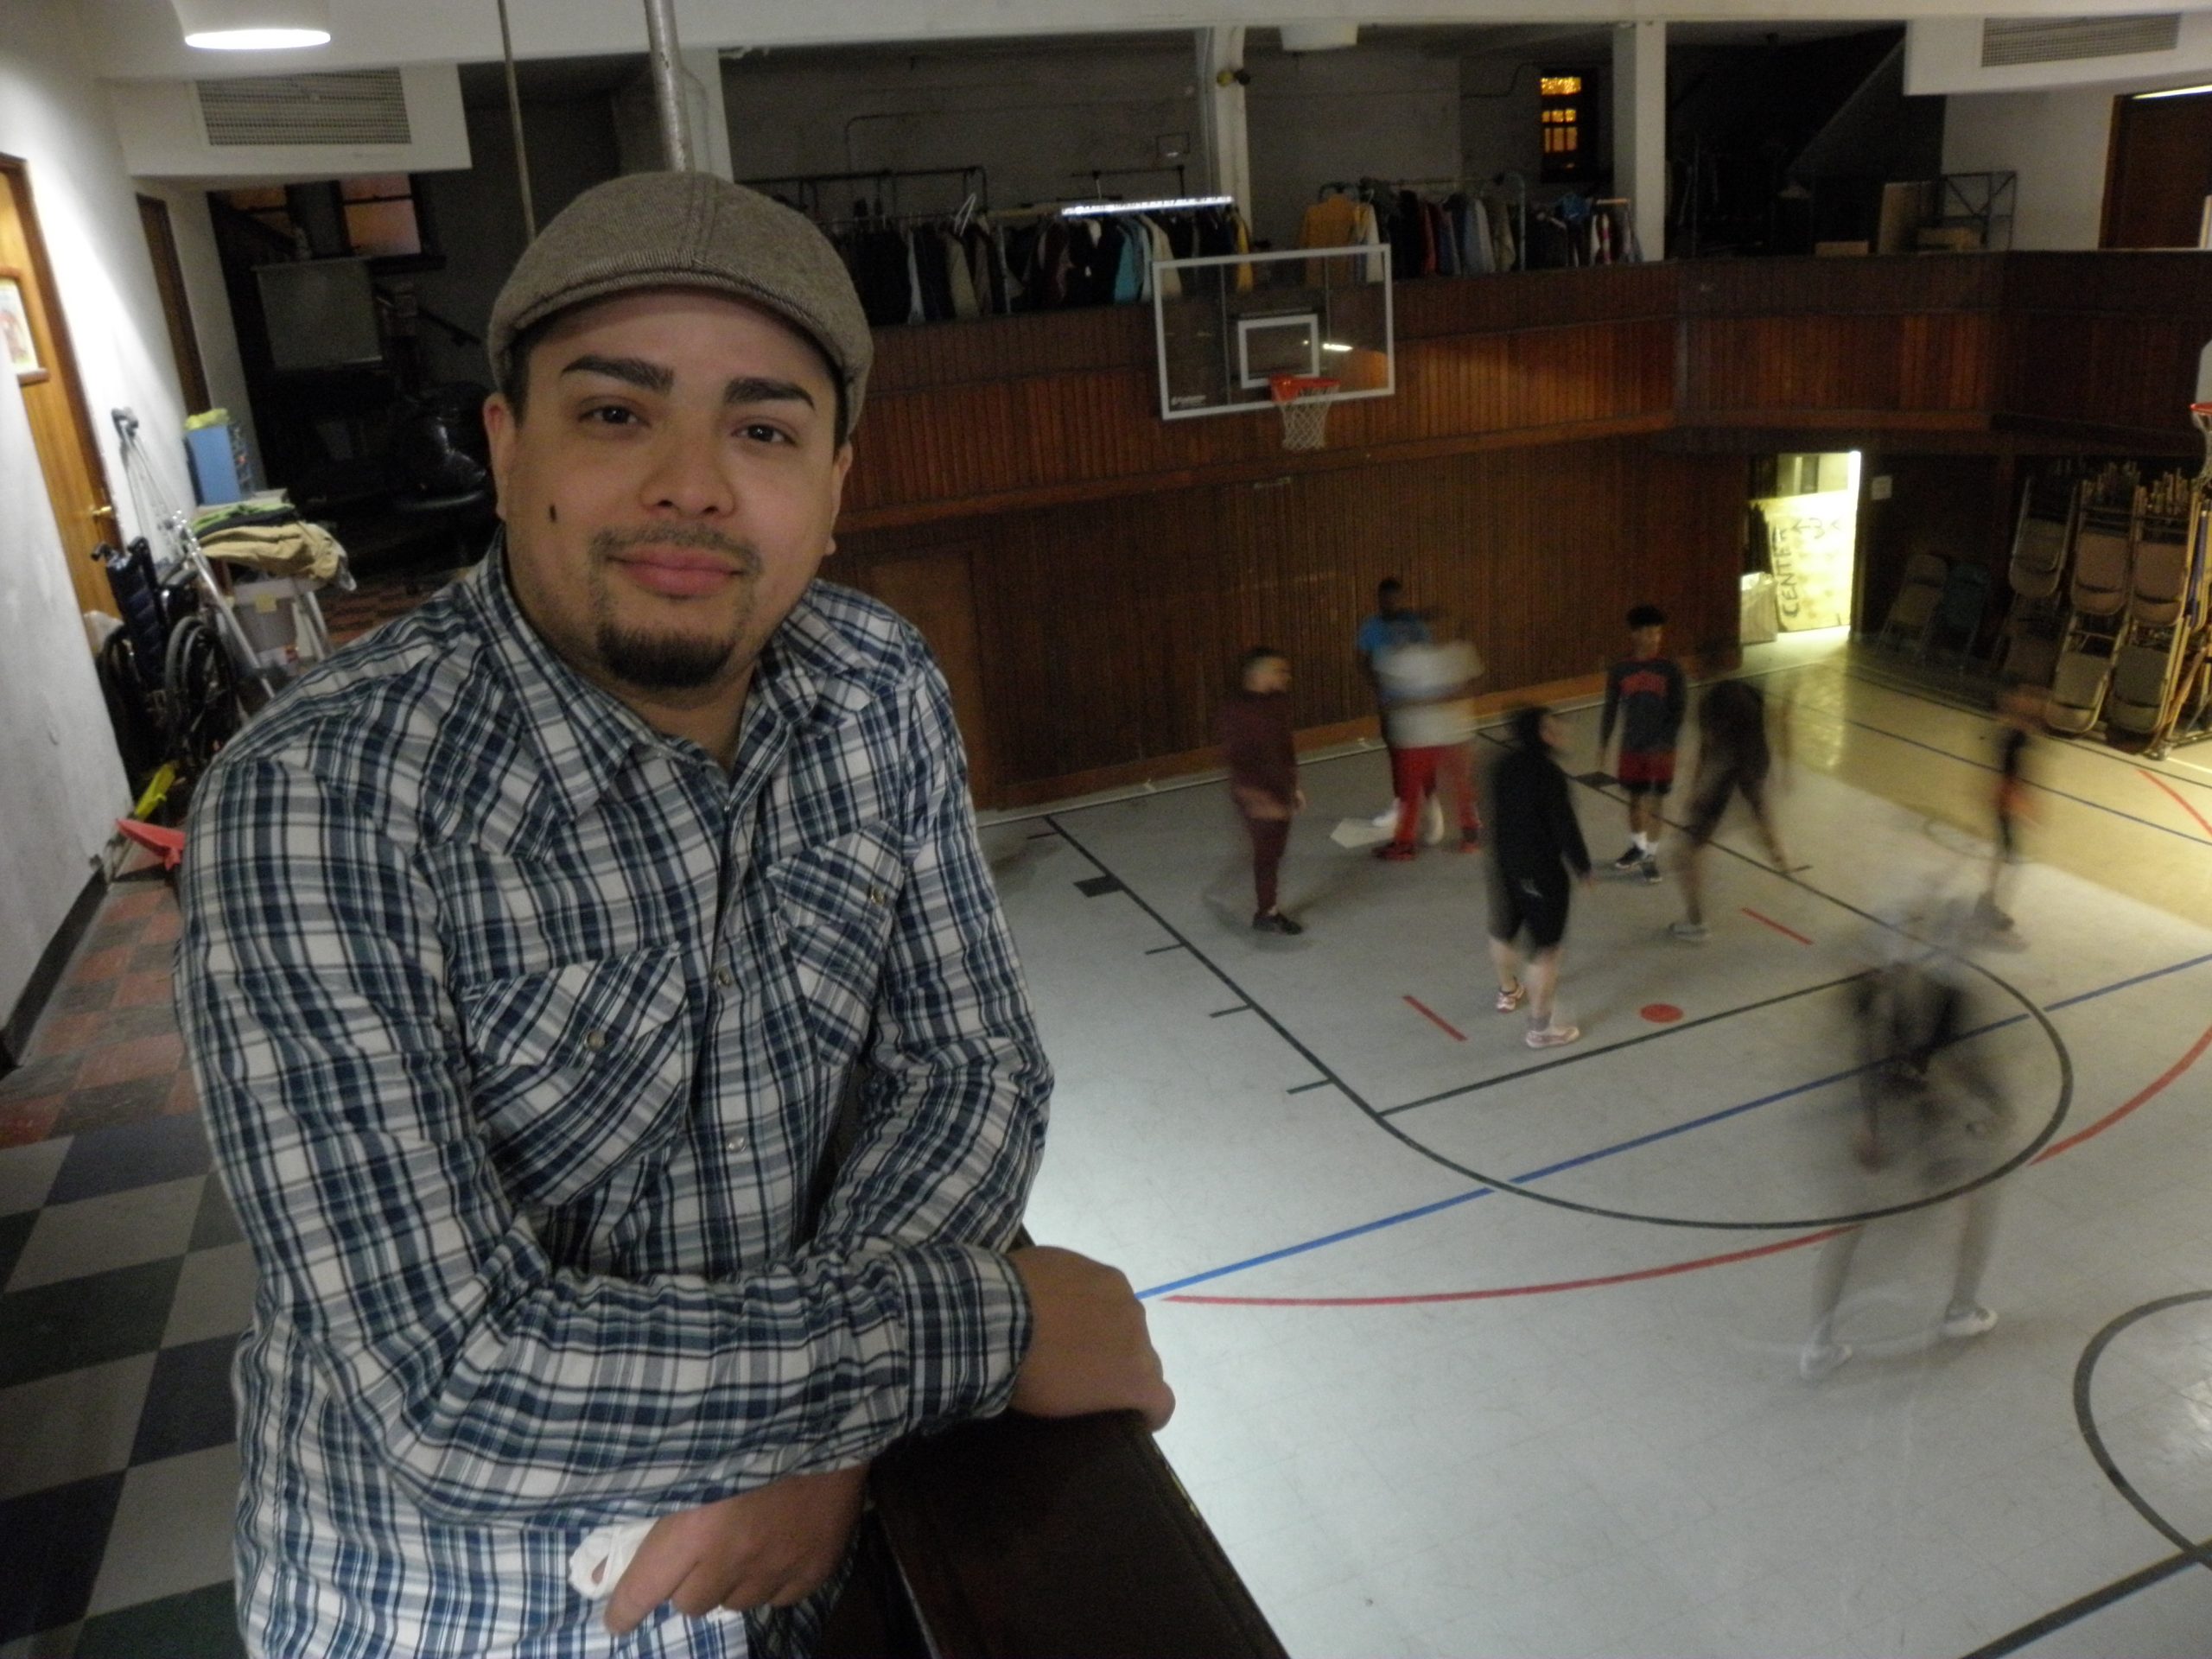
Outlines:
{"type": "Polygon", "coordinates": [[[863,825],[783,858],[768,883],[814,1037],[834,1057],[849,1057],[874,1018],[907,883],[905,845],[887,825],[863,825]]]}

